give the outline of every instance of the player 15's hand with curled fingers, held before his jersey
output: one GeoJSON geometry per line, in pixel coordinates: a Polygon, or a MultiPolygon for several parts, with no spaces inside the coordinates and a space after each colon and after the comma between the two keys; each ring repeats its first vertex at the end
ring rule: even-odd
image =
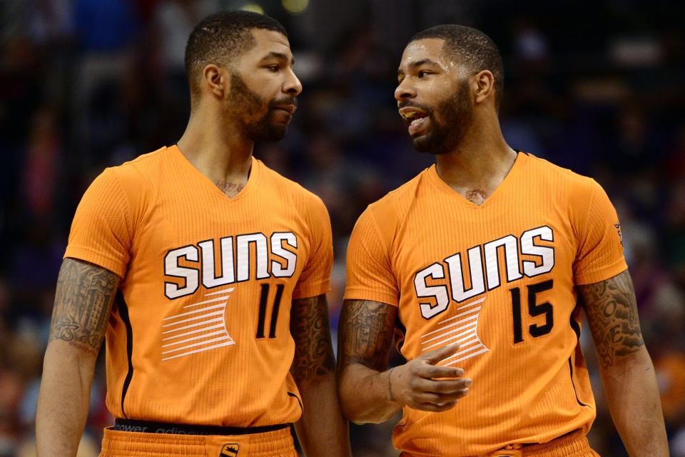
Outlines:
{"type": "Polygon", "coordinates": [[[427,352],[388,371],[389,400],[420,411],[441,412],[452,409],[469,393],[471,380],[462,378],[464,370],[438,366],[459,350],[453,343],[427,352]]]}

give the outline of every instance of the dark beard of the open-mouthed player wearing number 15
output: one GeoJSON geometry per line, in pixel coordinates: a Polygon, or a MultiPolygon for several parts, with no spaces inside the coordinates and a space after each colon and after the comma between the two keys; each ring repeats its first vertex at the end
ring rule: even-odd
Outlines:
{"type": "MultiPolygon", "coordinates": [[[[457,149],[457,146],[464,139],[473,117],[473,109],[469,103],[468,94],[469,83],[463,81],[452,96],[438,104],[437,109],[415,105],[424,109],[430,118],[430,131],[412,139],[417,151],[445,154],[457,149]],[[436,112],[440,114],[440,120],[437,119],[436,112]]],[[[402,106],[412,106],[412,104],[402,106]]]]}

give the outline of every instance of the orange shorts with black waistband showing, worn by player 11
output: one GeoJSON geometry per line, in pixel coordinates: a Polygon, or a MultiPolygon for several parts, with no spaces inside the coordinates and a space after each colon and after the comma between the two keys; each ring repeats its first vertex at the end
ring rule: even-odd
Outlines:
{"type": "Polygon", "coordinates": [[[175,435],[105,428],[101,457],[298,457],[290,428],[249,435],[175,435]]]}

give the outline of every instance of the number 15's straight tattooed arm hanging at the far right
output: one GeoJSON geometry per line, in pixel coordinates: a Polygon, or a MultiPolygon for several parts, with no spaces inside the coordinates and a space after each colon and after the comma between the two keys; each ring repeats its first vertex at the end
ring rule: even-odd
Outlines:
{"type": "Polygon", "coordinates": [[[631,457],[668,456],[654,366],[644,347],[633,283],[624,271],[578,286],[609,409],[631,457]]]}

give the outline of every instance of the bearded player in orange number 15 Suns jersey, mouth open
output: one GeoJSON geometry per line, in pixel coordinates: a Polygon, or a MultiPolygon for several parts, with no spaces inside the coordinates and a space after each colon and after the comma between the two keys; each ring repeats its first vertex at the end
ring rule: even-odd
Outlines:
{"type": "Polygon", "coordinates": [[[357,221],[347,251],[339,391],[387,421],[402,456],[597,456],[579,344],[585,310],[631,456],[666,456],[619,221],[592,179],[514,151],[502,61],[463,26],[415,35],[395,99],[436,164],[357,221]],[[393,332],[407,363],[387,370],[393,332]]]}

